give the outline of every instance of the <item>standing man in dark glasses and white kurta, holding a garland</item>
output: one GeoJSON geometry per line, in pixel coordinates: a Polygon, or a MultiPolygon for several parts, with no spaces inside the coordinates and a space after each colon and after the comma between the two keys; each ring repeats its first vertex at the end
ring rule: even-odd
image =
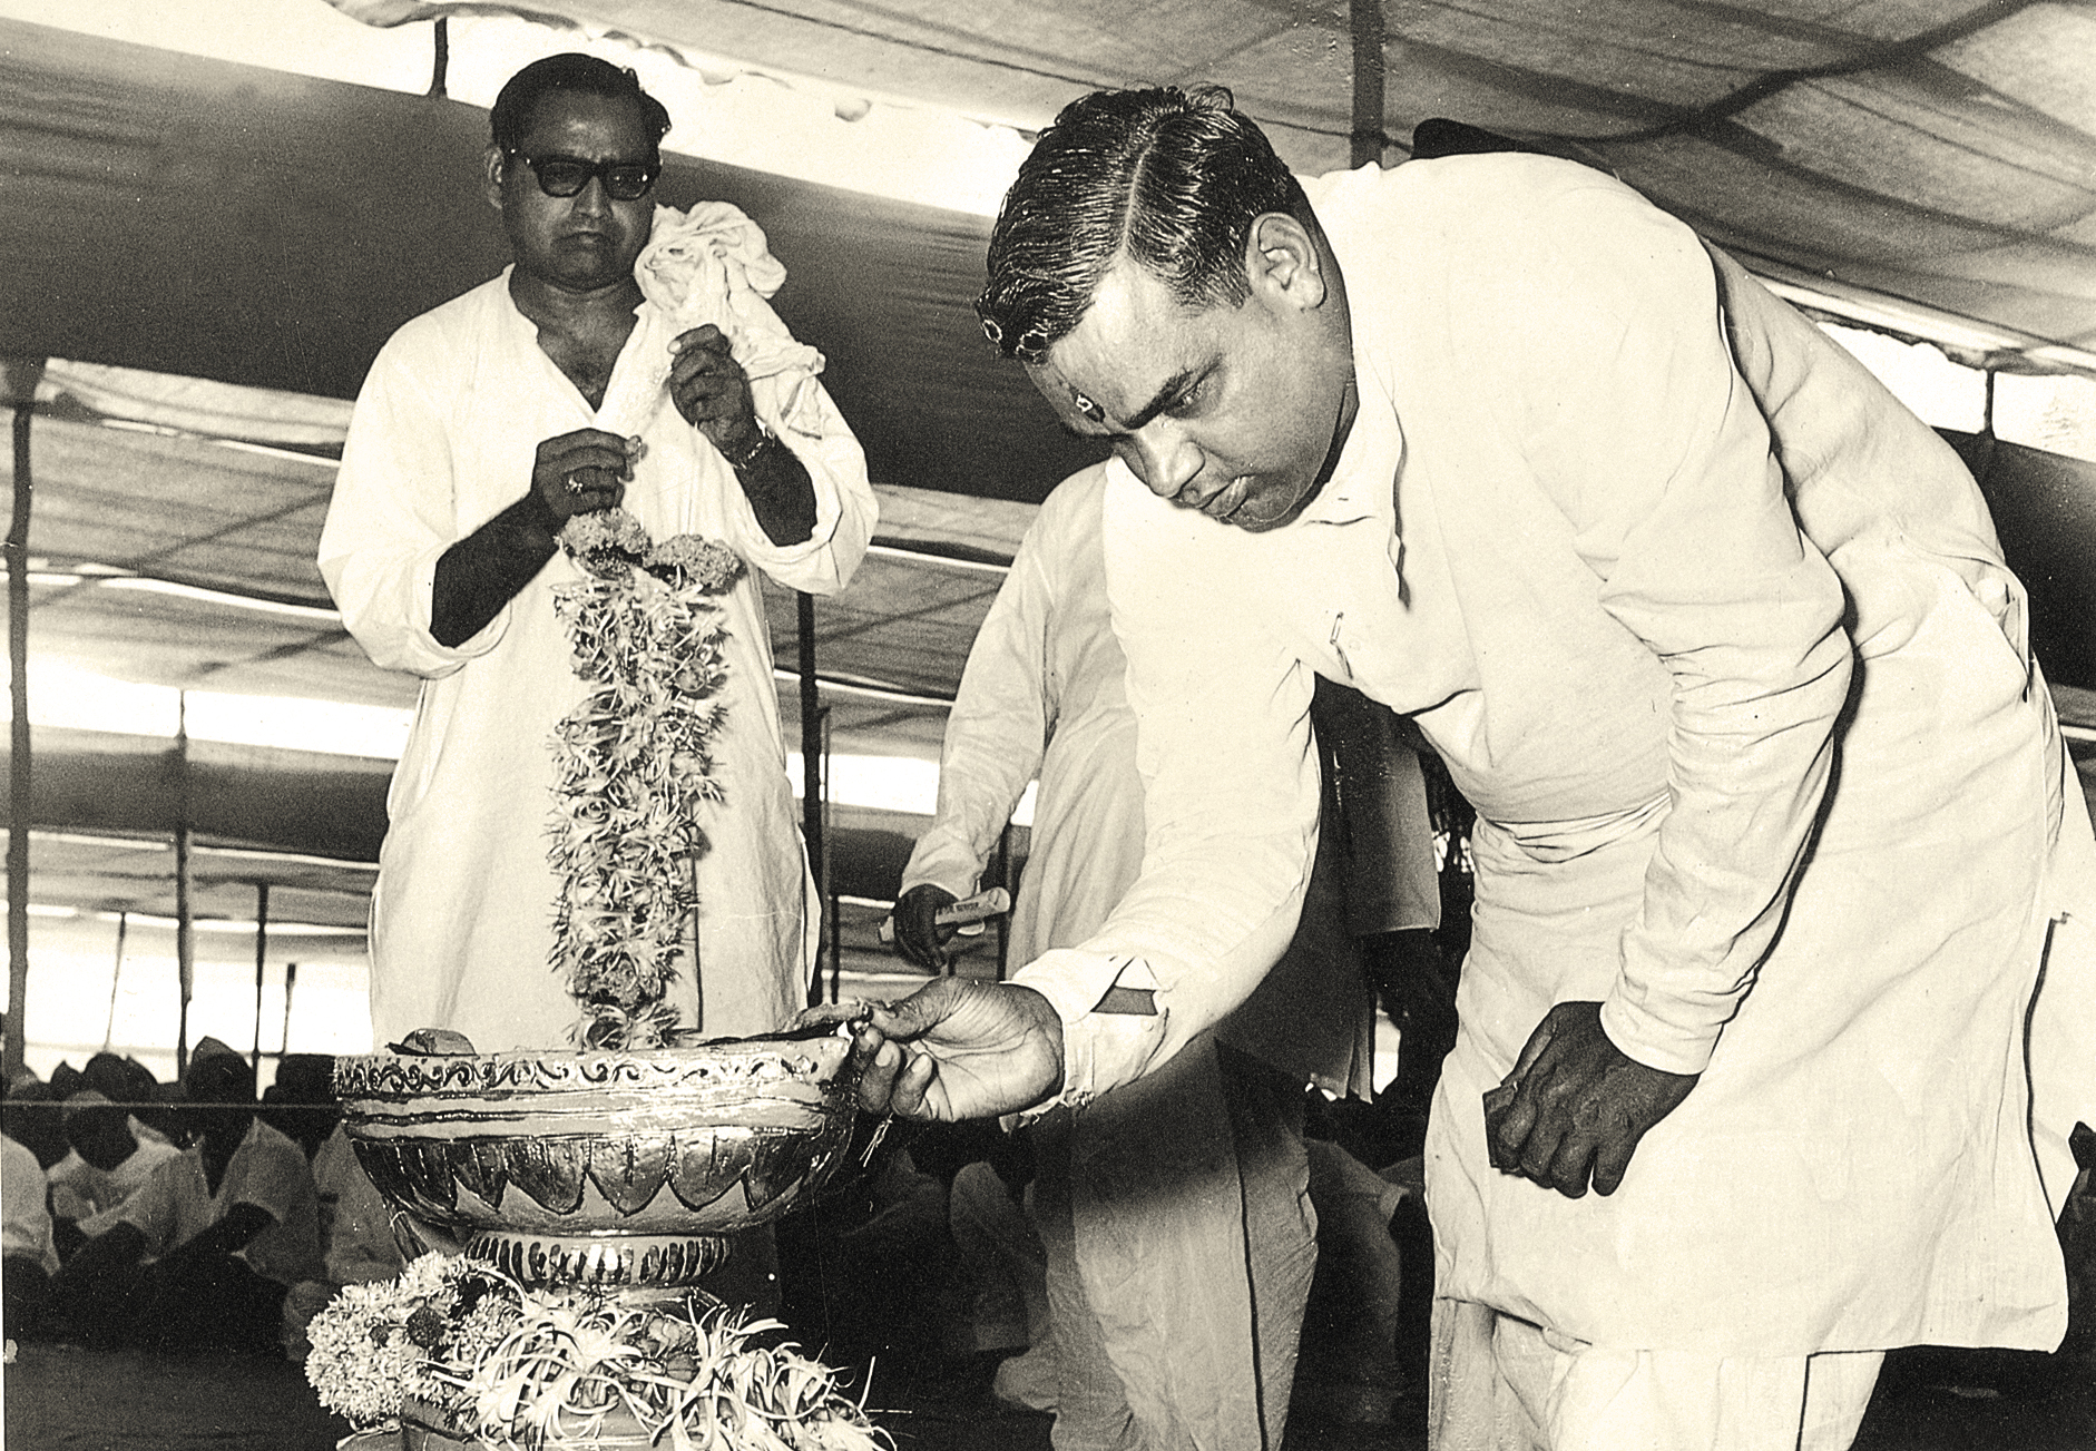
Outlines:
{"type": "MultiPolygon", "coordinates": [[[[715,595],[727,679],[723,801],[698,860],[704,1000],[685,971],[671,1004],[708,1036],[769,1032],[803,1000],[817,904],[757,570],[840,589],[874,526],[866,461],[805,369],[759,375],[757,359],[794,352],[782,329],[750,348],[643,300],[669,120],[631,71],[539,61],[493,126],[486,193],[514,266],[379,352],[321,537],[358,644],[423,677],[373,895],[373,1032],[451,1027],[490,1053],[562,1044],[578,1017],[549,967],[551,736],[585,692],[553,614],[555,585],[578,579],[555,535],[612,505],[656,541],[702,535],[750,566],[715,595]]],[[[738,277],[776,270],[755,226],[723,231],[738,277]]]]}

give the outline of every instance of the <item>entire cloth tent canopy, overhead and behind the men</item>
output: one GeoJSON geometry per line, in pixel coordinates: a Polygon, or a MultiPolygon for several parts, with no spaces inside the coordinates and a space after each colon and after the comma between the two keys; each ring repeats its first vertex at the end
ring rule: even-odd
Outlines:
{"type": "MultiPolygon", "coordinates": [[[[337,4],[375,21],[499,8],[337,4]]],[[[1333,4],[526,8],[1023,128],[1094,86],[1216,80],[1304,172],[1344,166],[1354,126],[1354,34],[1333,4]]],[[[1375,15],[1381,46],[1367,52],[1383,59],[1385,161],[1402,159],[1429,117],[1484,126],[1616,170],[1796,300],[1991,365],[2096,375],[2090,6],[1635,0],[1601,25],[1541,0],[1404,0],[1375,15]]],[[[346,400],[377,346],[505,260],[478,201],[484,138],[484,111],[453,101],[0,21],[0,172],[13,203],[0,212],[0,356],[65,361],[36,388],[40,654],[187,690],[413,700],[415,681],[373,669],[327,614],[312,554],[346,400]]],[[[1092,455],[981,344],[970,302],[987,220],[673,157],[662,199],[702,197],[765,226],[788,266],[778,310],[828,356],[824,380],[882,495],[882,547],[815,612],[830,744],[931,757],[937,702],[960,679],[996,562],[1017,547],[1031,501],[1092,455]]],[[[2046,480],[2018,497],[2067,514],[2039,510],[2033,537],[2069,514],[2096,530],[2086,507],[2096,484],[2073,472],[2046,480]]],[[[2048,583],[2033,579],[2077,602],[2054,612],[2062,629],[2086,621],[2086,593],[2073,593],[2086,558],[2048,556],[2048,583]]],[[[782,663],[794,658],[792,614],[790,598],[771,600],[782,663]]],[[[2079,640],[2056,679],[2092,669],[2079,640]]],[[[790,694],[796,681],[782,686],[790,694]]],[[[113,757],[50,744],[38,822],[159,828],[153,811],[111,814],[111,797],[161,799],[109,791],[113,757]]],[[[163,763],[145,757],[124,757],[124,772],[145,774],[122,780],[161,780],[151,772],[163,763]]],[[[268,772],[363,793],[331,807],[342,830],[329,839],[369,851],[381,772],[272,757],[218,780],[231,793],[268,772]]],[[[249,816],[235,835],[312,849],[314,822],[300,820],[310,795],[247,799],[285,822],[249,816]]],[[[237,820],[228,807],[222,828],[237,820]]],[[[897,824],[849,826],[836,849],[872,841],[864,860],[876,866],[851,881],[840,860],[838,881],[893,889],[897,824]]]]}

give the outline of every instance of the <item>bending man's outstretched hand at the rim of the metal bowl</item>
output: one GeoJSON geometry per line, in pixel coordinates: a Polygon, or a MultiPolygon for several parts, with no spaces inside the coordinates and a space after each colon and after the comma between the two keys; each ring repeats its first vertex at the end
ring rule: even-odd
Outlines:
{"type": "Polygon", "coordinates": [[[996,1118],[1063,1088],[1063,1019],[1019,983],[935,977],[914,996],[832,1002],[796,1023],[853,1025],[859,1107],[905,1120],[996,1118]]]}

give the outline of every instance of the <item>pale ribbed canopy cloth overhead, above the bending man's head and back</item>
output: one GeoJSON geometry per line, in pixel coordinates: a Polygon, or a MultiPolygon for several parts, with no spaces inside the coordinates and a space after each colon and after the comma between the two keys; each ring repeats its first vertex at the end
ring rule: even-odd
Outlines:
{"type": "MultiPolygon", "coordinates": [[[[377,25],[547,10],[696,57],[1044,126],[1102,86],[1220,82],[1300,172],[1350,164],[1362,4],[331,0],[377,25]]],[[[1385,161],[1429,117],[1593,161],[1798,285],[1903,300],[1974,352],[2096,371],[2096,10],[2044,0],[1383,0],[1385,161]],[[1991,338],[1991,344],[1987,342],[1991,338]]],[[[1373,44],[1373,36],[1381,44],[1373,44]]],[[[1928,335],[1928,333],[1924,333],[1928,335]]]]}

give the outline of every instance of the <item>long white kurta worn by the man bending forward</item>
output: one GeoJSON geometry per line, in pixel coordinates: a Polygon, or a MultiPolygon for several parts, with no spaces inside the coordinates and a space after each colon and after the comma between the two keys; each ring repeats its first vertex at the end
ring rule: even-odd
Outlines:
{"type": "MultiPolygon", "coordinates": [[[[1970,476],[1597,172],[1455,157],[1312,197],[1360,384],[1333,480],[1268,535],[1109,484],[1170,828],[1092,941],[1019,975],[1065,1017],[1071,1086],[1199,1032],[1285,931],[1323,671],[1413,713],[1480,811],[1438,1294],[1706,1355],[2056,1342],[2023,1021],[2048,923],[2096,883],[1970,476]],[[1115,979],[1167,1019],[1092,1015],[1115,979]],[[1572,998],[1702,1071],[1612,1197],[1486,1164],[1480,1097],[1572,998]]],[[[2073,931],[2048,1000],[2086,1000],[2073,931]]]]}

